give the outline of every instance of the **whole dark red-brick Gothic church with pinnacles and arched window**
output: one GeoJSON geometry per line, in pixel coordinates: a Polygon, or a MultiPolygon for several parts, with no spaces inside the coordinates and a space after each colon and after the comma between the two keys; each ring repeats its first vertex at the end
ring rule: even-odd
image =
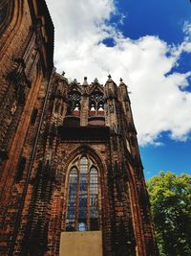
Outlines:
{"type": "Polygon", "coordinates": [[[0,2],[0,255],[158,255],[127,85],[53,69],[44,0],[0,2]]]}

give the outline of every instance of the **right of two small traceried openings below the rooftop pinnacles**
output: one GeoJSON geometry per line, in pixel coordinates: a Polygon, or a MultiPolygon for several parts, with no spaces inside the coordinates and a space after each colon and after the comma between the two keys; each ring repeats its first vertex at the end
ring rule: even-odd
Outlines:
{"type": "Polygon", "coordinates": [[[104,98],[102,93],[95,92],[91,94],[89,108],[92,113],[95,111],[95,115],[102,115],[104,113],[104,98]]]}

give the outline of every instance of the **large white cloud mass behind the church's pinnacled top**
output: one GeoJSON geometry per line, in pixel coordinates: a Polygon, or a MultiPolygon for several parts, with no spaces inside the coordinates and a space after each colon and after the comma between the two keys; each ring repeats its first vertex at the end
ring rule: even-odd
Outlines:
{"type": "MultiPolygon", "coordinates": [[[[117,14],[112,0],[47,0],[55,27],[55,64],[67,77],[87,76],[105,82],[112,74],[129,85],[141,145],[159,143],[159,134],[185,140],[191,131],[191,93],[186,92],[191,73],[171,72],[182,52],[191,52],[191,24],[184,23],[184,41],[168,45],[157,36],[138,40],[124,37],[109,23],[117,14]],[[103,39],[113,38],[107,47],[103,39]],[[170,73],[171,72],[171,73],[170,73]],[[168,75],[170,74],[170,75],[168,75]]],[[[123,15],[121,14],[122,18],[123,15]]],[[[119,22],[120,22],[119,18],[119,22]]]]}

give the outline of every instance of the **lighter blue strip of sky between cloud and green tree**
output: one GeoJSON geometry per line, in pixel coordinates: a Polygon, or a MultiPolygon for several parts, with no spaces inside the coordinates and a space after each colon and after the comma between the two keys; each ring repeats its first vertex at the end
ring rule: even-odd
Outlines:
{"type": "Polygon", "coordinates": [[[160,171],[171,171],[177,175],[182,173],[191,175],[191,142],[180,142],[161,135],[162,146],[147,145],[140,147],[140,154],[144,166],[144,175],[148,179],[159,175],[160,171]]]}

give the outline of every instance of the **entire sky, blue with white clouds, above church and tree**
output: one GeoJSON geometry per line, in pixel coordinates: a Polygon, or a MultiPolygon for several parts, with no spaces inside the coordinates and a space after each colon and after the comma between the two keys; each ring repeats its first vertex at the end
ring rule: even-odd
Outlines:
{"type": "Polygon", "coordinates": [[[189,0],[47,0],[67,78],[128,85],[146,178],[191,174],[189,0]]]}

